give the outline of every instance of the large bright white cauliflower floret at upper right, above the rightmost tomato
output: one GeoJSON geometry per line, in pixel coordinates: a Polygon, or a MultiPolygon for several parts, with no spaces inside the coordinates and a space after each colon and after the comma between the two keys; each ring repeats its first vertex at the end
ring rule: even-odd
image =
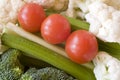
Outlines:
{"type": "Polygon", "coordinates": [[[89,6],[85,17],[90,32],[104,41],[120,43],[120,11],[97,1],[89,6]]]}

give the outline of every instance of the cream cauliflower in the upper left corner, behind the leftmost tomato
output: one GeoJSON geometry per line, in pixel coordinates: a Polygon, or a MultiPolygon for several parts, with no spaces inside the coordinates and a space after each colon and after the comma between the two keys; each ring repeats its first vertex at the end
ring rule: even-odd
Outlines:
{"type": "Polygon", "coordinates": [[[69,0],[0,0],[0,24],[16,23],[17,13],[28,2],[43,5],[45,8],[65,10],[69,0]]]}

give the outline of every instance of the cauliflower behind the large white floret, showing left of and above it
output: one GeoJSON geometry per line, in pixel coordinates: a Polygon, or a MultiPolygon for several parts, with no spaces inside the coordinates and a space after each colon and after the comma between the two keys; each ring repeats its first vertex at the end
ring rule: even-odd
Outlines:
{"type": "Polygon", "coordinates": [[[68,9],[66,11],[66,15],[70,17],[82,17],[84,18],[85,14],[89,12],[89,5],[94,3],[95,1],[101,1],[107,5],[110,5],[116,9],[120,10],[120,0],[69,0],[68,9]],[[81,9],[76,10],[76,8],[81,9]]]}

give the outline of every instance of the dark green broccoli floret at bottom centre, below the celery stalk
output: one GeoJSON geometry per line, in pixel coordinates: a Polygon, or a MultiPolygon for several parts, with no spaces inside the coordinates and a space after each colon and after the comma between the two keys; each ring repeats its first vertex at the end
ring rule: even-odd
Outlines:
{"type": "Polygon", "coordinates": [[[20,80],[76,80],[66,74],[64,71],[58,70],[53,67],[46,67],[37,70],[30,68],[22,75],[20,80]]]}

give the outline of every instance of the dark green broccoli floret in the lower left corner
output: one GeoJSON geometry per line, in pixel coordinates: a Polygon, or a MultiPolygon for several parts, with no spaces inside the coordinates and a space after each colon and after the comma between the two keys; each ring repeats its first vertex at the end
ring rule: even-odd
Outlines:
{"type": "Polygon", "coordinates": [[[18,80],[23,73],[23,66],[18,57],[20,51],[9,49],[0,58],[0,80],[18,80]]]}

